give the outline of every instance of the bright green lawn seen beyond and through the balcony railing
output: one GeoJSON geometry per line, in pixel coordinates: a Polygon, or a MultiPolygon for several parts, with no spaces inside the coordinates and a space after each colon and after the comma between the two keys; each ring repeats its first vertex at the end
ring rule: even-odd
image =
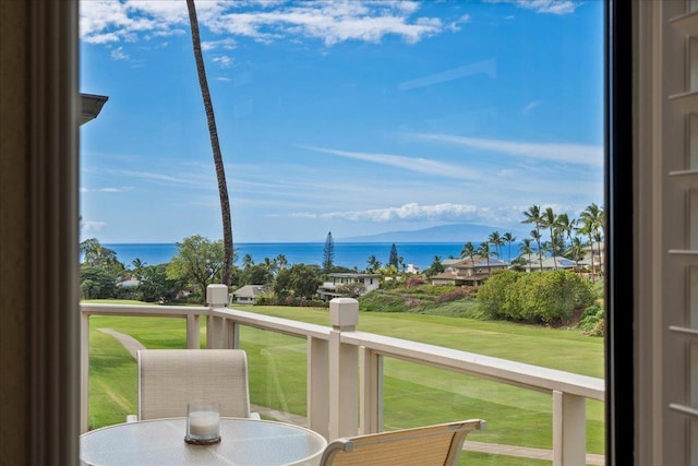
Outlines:
{"type": "MultiPolygon", "coordinates": [[[[240,309],[328,324],[325,309],[240,309]]],[[[573,330],[406,313],[368,312],[361,313],[359,321],[358,330],[363,332],[603,378],[603,339],[582,336],[573,330]]],[[[202,322],[202,328],[204,324],[202,322]]],[[[129,334],[148,348],[185,347],[185,323],[180,319],[91,318],[93,428],[122,422],[127,414],[136,411],[135,361],[112,336],[99,328],[129,334]]],[[[305,340],[243,327],[240,342],[248,351],[252,403],[305,415],[305,340]]],[[[547,394],[389,358],[385,360],[384,370],[385,429],[483,418],[488,420],[488,429],[471,433],[468,440],[552,447],[552,398],[547,394]]],[[[600,402],[587,402],[587,451],[590,453],[603,453],[603,409],[600,402]]],[[[480,459],[476,463],[494,464],[480,459]]],[[[531,463],[508,458],[507,463],[496,464],[531,463]]]]}

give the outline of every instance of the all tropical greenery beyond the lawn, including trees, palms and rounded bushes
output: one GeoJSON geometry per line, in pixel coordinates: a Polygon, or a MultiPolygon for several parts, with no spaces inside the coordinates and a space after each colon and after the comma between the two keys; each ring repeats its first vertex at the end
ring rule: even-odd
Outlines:
{"type": "MultiPolygon", "coordinates": [[[[588,255],[591,251],[597,258],[602,254],[603,208],[590,204],[578,218],[570,218],[566,213],[556,214],[553,207],[532,205],[522,215],[521,222],[530,224],[532,229],[529,237],[520,240],[519,255],[510,260],[508,272],[493,274],[490,265],[494,258],[504,255],[505,248],[507,256],[512,258],[512,247],[517,240],[512,232],[492,231],[481,243],[464,243],[459,259],[473,267],[476,263],[482,263],[491,275],[479,289],[426,283],[424,278],[446,271],[438,255],[423,274],[407,273],[397,246],[393,243],[386,264],[371,255],[363,271],[381,275],[381,289],[364,295],[360,284],[345,284],[336,291],[359,298],[364,311],[443,312],[445,315],[552,325],[579,321],[586,334],[602,335],[603,307],[599,299],[602,289],[598,288],[597,292],[589,289],[601,271],[597,261],[591,261],[590,270],[580,262],[585,252],[588,255]],[[518,273],[542,271],[543,258],[553,259],[553,273],[518,273]],[[575,262],[574,273],[558,266],[561,258],[575,262]]],[[[101,246],[96,238],[83,241],[83,298],[203,303],[206,287],[224,280],[225,241],[192,236],[178,242],[177,247],[176,255],[167,264],[148,265],[135,259],[127,266],[119,262],[115,251],[101,246]]],[[[236,260],[237,252],[233,262],[236,260]]],[[[334,240],[328,232],[322,266],[289,264],[284,254],[255,263],[254,258],[245,254],[240,266],[233,264],[231,285],[262,285],[266,291],[257,298],[258,304],[326,307],[326,302],[315,298],[317,288],[328,274],[352,272],[358,271],[334,263],[334,240]]]]}

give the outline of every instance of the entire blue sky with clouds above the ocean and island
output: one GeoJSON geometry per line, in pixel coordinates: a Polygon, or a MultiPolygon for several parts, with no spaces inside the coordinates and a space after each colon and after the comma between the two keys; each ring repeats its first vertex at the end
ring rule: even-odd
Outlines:
{"type": "MultiPolygon", "coordinates": [[[[600,0],[196,8],[236,242],[603,204],[600,0]]],[[[81,128],[81,237],[220,239],[184,0],[83,0],[80,21],[81,91],[109,96],[81,128]]]]}

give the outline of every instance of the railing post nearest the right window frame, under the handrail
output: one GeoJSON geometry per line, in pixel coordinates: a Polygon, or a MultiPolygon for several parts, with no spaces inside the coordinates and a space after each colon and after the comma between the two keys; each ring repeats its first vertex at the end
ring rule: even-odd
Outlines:
{"type": "Polygon", "coordinates": [[[553,390],[553,466],[586,464],[586,399],[553,390]]]}

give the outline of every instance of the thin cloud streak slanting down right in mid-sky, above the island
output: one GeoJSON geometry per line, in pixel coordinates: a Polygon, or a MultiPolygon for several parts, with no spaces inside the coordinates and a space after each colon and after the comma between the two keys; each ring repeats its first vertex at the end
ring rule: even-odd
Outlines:
{"type": "Polygon", "coordinates": [[[388,165],[392,167],[402,168],[405,170],[417,171],[425,175],[438,175],[447,178],[456,178],[464,180],[476,180],[480,175],[465,169],[458,165],[445,164],[443,162],[431,160],[421,157],[404,157],[393,154],[376,154],[368,152],[349,152],[333,148],[301,146],[311,151],[322,152],[325,154],[337,155],[340,157],[354,158],[358,160],[370,162],[373,164],[388,165]]]}

